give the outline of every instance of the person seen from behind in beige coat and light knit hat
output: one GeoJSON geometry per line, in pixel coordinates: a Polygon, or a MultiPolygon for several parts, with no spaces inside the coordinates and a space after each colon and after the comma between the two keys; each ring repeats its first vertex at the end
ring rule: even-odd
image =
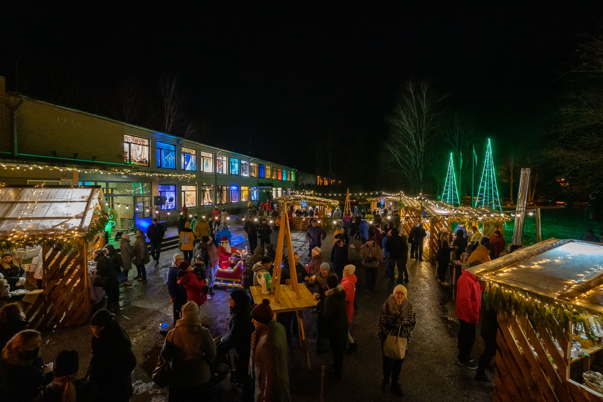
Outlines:
{"type": "MultiPolygon", "coordinates": [[[[183,262],[188,263],[188,262],[183,262]]],[[[169,330],[159,355],[169,363],[168,402],[196,401],[206,394],[216,344],[198,318],[194,301],[182,306],[182,318],[169,330]]]]}

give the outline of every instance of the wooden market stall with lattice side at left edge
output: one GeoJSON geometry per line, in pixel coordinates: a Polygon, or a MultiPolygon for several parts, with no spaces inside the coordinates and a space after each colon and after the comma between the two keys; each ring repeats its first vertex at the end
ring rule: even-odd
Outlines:
{"type": "Polygon", "coordinates": [[[42,246],[43,290],[26,312],[30,328],[72,327],[90,318],[98,296],[88,271],[90,245],[103,246],[107,212],[100,186],[0,188],[0,248],[42,246]]]}

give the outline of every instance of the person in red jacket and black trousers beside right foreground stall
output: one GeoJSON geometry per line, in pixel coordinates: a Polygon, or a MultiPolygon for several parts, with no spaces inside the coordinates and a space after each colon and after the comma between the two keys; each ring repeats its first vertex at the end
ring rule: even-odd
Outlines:
{"type": "Polygon", "coordinates": [[[458,318],[458,356],[456,362],[471,369],[478,368],[471,359],[471,350],[475,342],[475,327],[479,322],[482,292],[478,277],[464,269],[456,281],[455,315],[458,318]]]}

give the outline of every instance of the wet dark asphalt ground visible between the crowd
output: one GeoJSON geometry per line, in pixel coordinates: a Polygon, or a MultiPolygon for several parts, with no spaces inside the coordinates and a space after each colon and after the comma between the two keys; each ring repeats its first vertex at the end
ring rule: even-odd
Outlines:
{"type": "MultiPolygon", "coordinates": [[[[232,225],[232,245],[244,247],[247,237],[241,228],[232,225]]],[[[273,231],[272,240],[276,248],[278,233],[273,231]]],[[[300,253],[300,262],[308,262],[308,242],[305,233],[292,234],[293,245],[300,253]]],[[[325,260],[330,260],[333,231],[327,231],[327,239],[321,247],[325,260]]],[[[358,310],[354,312],[351,334],[358,343],[355,353],[344,357],[344,377],[333,380],[326,374],[324,378],[324,401],[490,401],[493,383],[478,383],[473,380],[475,370],[456,364],[456,332],[458,321],[454,316],[454,301],[448,289],[440,286],[434,277],[435,266],[429,262],[409,260],[407,268],[410,281],[406,284],[408,297],[414,306],[417,326],[412,343],[406,353],[400,374],[403,397],[380,389],[382,379],[382,354],[375,336],[379,310],[393,291],[384,276],[385,264],[379,266],[379,279],[374,293],[365,294],[364,271],[360,262],[359,240],[356,248],[350,248],[350,263],[356,265],[358,284],[356,301],[358,310]]],[[[121,312],[118,321],[129,334],[138,365],[132,378],[134,395],[131,401],[167,401],[167,389],[161,389],[151,381],[151,374],[157,363],[157,356],[163,345],[159,334],[162,323],[172,324],[172,305],[165,284],[167,267],[176,249],[162,252],[159,264],[151,263],[147,268],[147,282],[134,281],[131,287],[120,288],[119,304],[121,312]]],[[[135,275],[130,271],[130,277],[135,275]]],[[[201,321],[214,336],[225,333],[229,322],[229,293],[214,291],[215,295],[201,306],[201,321]]],[[[105,301],[101,302],[101,307],[105,301]]],[[[294,401],[318,401],[321,391],[321,366],[326,372],[330,368],[330,353],[316,354],[316,315],[303,313],[306,339],[311,361],[308,369],[306,353],[299,347],[297,333],[289,344],[289,382],[294,401]]],[[[43,333],[40,351],[45,362],[52,362],[63,349],[75,349],[80,353],[79,375],[86,374],[90,360],[90,339],[92,332],[87,326],[66,328],[43,333]]],[[[479,325],[472,356],[476,361],[484,348],[479,337],[479,325]]],[[[488,369],[490,377],[493,376],[488,369]]],[[[207,401],[236,401],[240,390],[232,385],[229,378],[203,395],[207,401]]]]}

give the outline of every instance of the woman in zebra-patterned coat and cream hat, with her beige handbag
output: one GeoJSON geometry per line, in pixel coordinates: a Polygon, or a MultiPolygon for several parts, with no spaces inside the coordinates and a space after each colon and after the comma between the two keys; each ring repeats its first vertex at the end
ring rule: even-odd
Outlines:
{"type": "Polygon", "coordinates": [[[412,339],[417,321],[408,291],[401,284],[394,287],[394,293],[387,298],[377,321],[377,338],[383,351],[383,383],[381,389],[387,392],[390,385],[396,395],[402,396],[402,387],[398,382],[402,362],[412,339]]]}

